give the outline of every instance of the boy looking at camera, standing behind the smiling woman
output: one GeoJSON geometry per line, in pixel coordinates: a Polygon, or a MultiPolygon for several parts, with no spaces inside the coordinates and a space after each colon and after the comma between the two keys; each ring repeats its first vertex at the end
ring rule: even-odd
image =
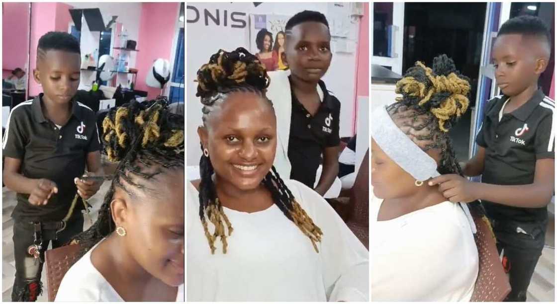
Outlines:
{"type": "MultiPolygon", "coordinates": [[[[321,80],[332,57],[329,23],[319,12],[303,11],[289,19],[285,32],[284,53],[290,68],[288,78],[292,100],[291,108],[288,107],[290,111],[285,111],[290,115],[286,117],[285,114],[284,117],[290,121],[290,127],[286,126],[289,133],[285,132],[288,134],[286,146],[291,165],[290,178],[324,195],[338,174],[340,144],[340,102],[327,91],[321,80]],[[314,187],[321,155],[323,170],[314,187]]],[[[277,99],[273,96],[270,99],[276,105],[277,99]]],[[[277,155],[281,157],[280,153],[277,155]]]]}

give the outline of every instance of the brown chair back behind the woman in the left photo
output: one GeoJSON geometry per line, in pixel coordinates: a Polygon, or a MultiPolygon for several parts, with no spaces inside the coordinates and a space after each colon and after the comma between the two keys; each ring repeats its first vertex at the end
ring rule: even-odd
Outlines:
{"type": "Polygon", "coordinates": [[[80,249],[81,246],[79,244],[73,244],[46,251],[46,283],[49,302],[54,302],[62,278],[70,267],[77,262],[77,259],[80,258],[80,249]]]}

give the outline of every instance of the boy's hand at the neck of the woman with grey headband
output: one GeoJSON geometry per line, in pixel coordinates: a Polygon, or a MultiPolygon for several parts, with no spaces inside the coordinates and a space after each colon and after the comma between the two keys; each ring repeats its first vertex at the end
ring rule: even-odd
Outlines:
{"type": "Polygon", "coordinates": [[[429,180],[428,185],[439,185],[439,192],[453,203],[470,203],[477,200],[475,185],[458,174],[445,174],[429,180]]]}

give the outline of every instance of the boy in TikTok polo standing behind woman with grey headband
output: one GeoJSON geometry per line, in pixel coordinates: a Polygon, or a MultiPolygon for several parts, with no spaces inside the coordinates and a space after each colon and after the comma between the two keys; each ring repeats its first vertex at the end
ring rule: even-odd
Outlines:
{"type": "Polygon", "coordinates": [[[503,95],[488,101],[478,153],[463,166],[467,176],[482,174],[482,182],[456,175],[429,182],[451,202],[482,200],[510,274],[506,301],[526,301],[554,194],[555,102],[538,88],[550,45],[549,30],[537,17],[520,16],[501,26],[492,57],[503,95]]]}

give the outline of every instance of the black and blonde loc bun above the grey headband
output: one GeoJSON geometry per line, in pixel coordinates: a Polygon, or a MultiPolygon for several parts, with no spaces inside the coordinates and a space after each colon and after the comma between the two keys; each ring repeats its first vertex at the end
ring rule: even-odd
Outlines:
{"type": "Polygon", "coordinates": [[[456,70],[447,55],[434,58],[433,69],[416,62],[397,82],[395,91],[403,95],[397,101],[417,103],[431,111],[444,132],[452,128],[470,104],[470,80],[456,70]]]}

